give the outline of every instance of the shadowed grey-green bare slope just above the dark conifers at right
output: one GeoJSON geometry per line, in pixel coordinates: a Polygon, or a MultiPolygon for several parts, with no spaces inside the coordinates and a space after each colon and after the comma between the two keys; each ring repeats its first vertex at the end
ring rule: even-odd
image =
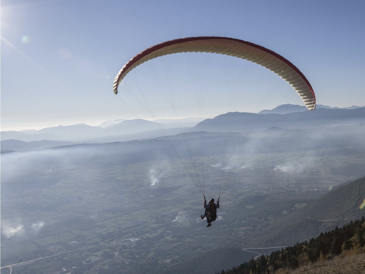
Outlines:
{"type": "Polygon", "coordinates": [[[285,246],[318,235],[330,228],[359,219],[365,198],[365,177],[328,192],[311,204],[274,220],[249,246],[285,246]]]}

